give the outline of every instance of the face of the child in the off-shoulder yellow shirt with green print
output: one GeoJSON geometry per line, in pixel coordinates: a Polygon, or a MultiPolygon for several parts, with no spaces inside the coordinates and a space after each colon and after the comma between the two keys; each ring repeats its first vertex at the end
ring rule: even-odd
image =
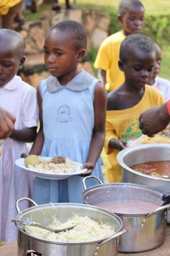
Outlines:
{"type": "Polygon", "coordinates": [[[133,49],[130,59],[123,66],[125,83],[130,87],[142,89],[148,84],[156,61],[155,52],[146,53],[137,48],[133,49]]]}

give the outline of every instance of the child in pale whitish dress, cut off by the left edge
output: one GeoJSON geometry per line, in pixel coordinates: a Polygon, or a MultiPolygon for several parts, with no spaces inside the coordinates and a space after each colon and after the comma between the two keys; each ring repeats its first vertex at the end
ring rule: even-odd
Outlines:
{"type": "Polygon", "coordinates": [[[27,151],[26,142],[34,140],[37,129],[36,91],[16,75],[24,64],[23,48],[19,33],[0,30],[0,107],[16,119],[12,134],[3,140],[0,158],[0,240],[4,242],[17,239],[17,229],[11,223],[17,215],[16,200],[30,197],[29,176],[14,168],[14,161],[27,151]]]}

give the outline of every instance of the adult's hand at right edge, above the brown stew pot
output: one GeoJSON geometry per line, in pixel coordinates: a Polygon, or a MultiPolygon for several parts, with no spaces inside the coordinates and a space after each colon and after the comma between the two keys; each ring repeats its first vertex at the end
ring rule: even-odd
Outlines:
{"type": "Polygon", "coordinates": [[[170,121],[170,100],[161,106],[149,108],[139,117],[139,128],[144,135],[153,137],[167,127],[170,121]]]}

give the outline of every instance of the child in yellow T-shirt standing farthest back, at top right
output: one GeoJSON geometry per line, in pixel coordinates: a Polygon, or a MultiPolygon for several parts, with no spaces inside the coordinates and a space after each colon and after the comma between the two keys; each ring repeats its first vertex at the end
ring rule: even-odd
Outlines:
{"type": "Polygon", "coordinates": [[[118,22],[122,30],[106,38],[99,48],[94,67],[98,69],[99,80],[105,89],[115,90],[125,80],[118,67],[120,44],[126,35],[140,33],[144,23],[144,7],[140,0],[122,0],[119,6],[118,22]]]}

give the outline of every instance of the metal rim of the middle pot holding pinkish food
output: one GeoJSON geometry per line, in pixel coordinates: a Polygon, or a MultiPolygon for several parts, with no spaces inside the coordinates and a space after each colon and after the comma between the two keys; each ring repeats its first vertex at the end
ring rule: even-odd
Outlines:
{"type": "MultiPolygon", "coordinates": [[[[156,192],[156,194],[160,195],[160,197],[162,197],[164,195],[163,192],[160,192],[156,189],[153,189],[152,187],[149,187],[149,186],[146,186],[146,185],[142,185],[142,184],[135,184],[135,183],[126,183],[126,182],[114,182],[114,183],[107,183],[107,184],[99,184],[99,185],[95,185],[95,186],[92,186],[92,187],[89,187],[88,189],[85,189],[84,192],[81,193],[81,199],[83,200],[83,202],[86,204],[86,205],[89,205],[88,202],[86,202],[86,200],[84,199],[84,195],[88,192],[91,192],[91,190],[95,190],[95,189],[98,189],[98,188],[102,188],[102,187],[115,187],[116,185],[120,186],[120,187],[123,187],[123,186],[127,186],[127,187],[143,187],[143,188],[146,188],[147,190],[150,190],[150,191],[153,191],[153,192],[156,192]]],[[[103,201],[103,202],[107,202],[107,201],[103,201]]],[[[96,205],[93,205],[93,206],[96,206],[96,205]]],[[[98,206],[96,206],[98,207],[98,206]]],[[[100,207],[98,207],[100,208],[100,207]]],[[[101,208],[102,210],[104,208],[101,208]]],[[[112,213],[112,212],[110,212],[112,213]]],[[[127,217],[143,217],[145,218],[146,215],[148,213],[112,213],[112,214],[115,214],[115,215],[118,215],[118,216],[127,216],[127,217]]]]}

